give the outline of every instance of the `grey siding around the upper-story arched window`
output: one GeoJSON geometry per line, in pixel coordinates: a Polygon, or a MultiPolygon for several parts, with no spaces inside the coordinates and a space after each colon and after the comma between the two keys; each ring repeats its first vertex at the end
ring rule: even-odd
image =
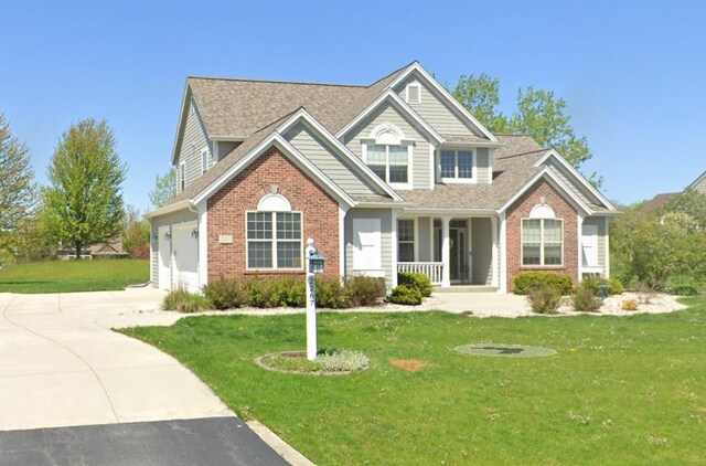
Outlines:
{"type": "Polygon", "coordinates": [[[385,123],[395,125],[405,134],[405,139],[415,141],[411,149],[414,189],[428,189],[431,176],[429,172],[429,141],[416,129],[416,123],[409,121],[392,104],[381,105],[353,130],[349,131],[343,142],[353,153],[363,157],[361,139],[368,139],[371,131],[385,123]]]}

